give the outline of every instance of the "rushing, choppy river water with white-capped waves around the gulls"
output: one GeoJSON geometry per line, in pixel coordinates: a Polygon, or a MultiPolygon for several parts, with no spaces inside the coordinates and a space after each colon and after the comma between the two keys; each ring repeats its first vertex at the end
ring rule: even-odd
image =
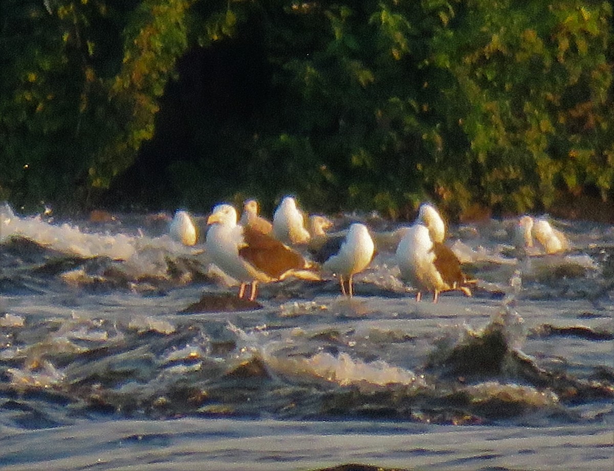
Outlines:
{"type": "Polygon", "coordinates": [[[518,259],[514,220],[453,227],[478,286],[433,304],[369,222],[354,298],[251,304],[168,218],[1,205],[2,469],[612,469],[614,228],[558,221],[568,253],[518,259]]]}

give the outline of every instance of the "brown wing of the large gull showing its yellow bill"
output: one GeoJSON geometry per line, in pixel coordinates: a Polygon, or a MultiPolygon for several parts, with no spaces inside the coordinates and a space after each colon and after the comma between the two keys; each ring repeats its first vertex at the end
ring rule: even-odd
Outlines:
{"type": "Polygon", "coordinates": [[[246,245],[239,249],[239,256],[271,278],[306,267],[301,254],[257,229],[244,227],[243,239],[246,245]]]}

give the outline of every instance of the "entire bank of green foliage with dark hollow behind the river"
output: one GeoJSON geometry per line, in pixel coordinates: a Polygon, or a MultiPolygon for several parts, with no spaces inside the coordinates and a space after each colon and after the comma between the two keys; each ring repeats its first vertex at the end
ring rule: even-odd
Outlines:
{"type": "Polygon", "coordinates": [[[3,0],[0,18],[18,206],[614,196],[610,1],[3,0]]]}

